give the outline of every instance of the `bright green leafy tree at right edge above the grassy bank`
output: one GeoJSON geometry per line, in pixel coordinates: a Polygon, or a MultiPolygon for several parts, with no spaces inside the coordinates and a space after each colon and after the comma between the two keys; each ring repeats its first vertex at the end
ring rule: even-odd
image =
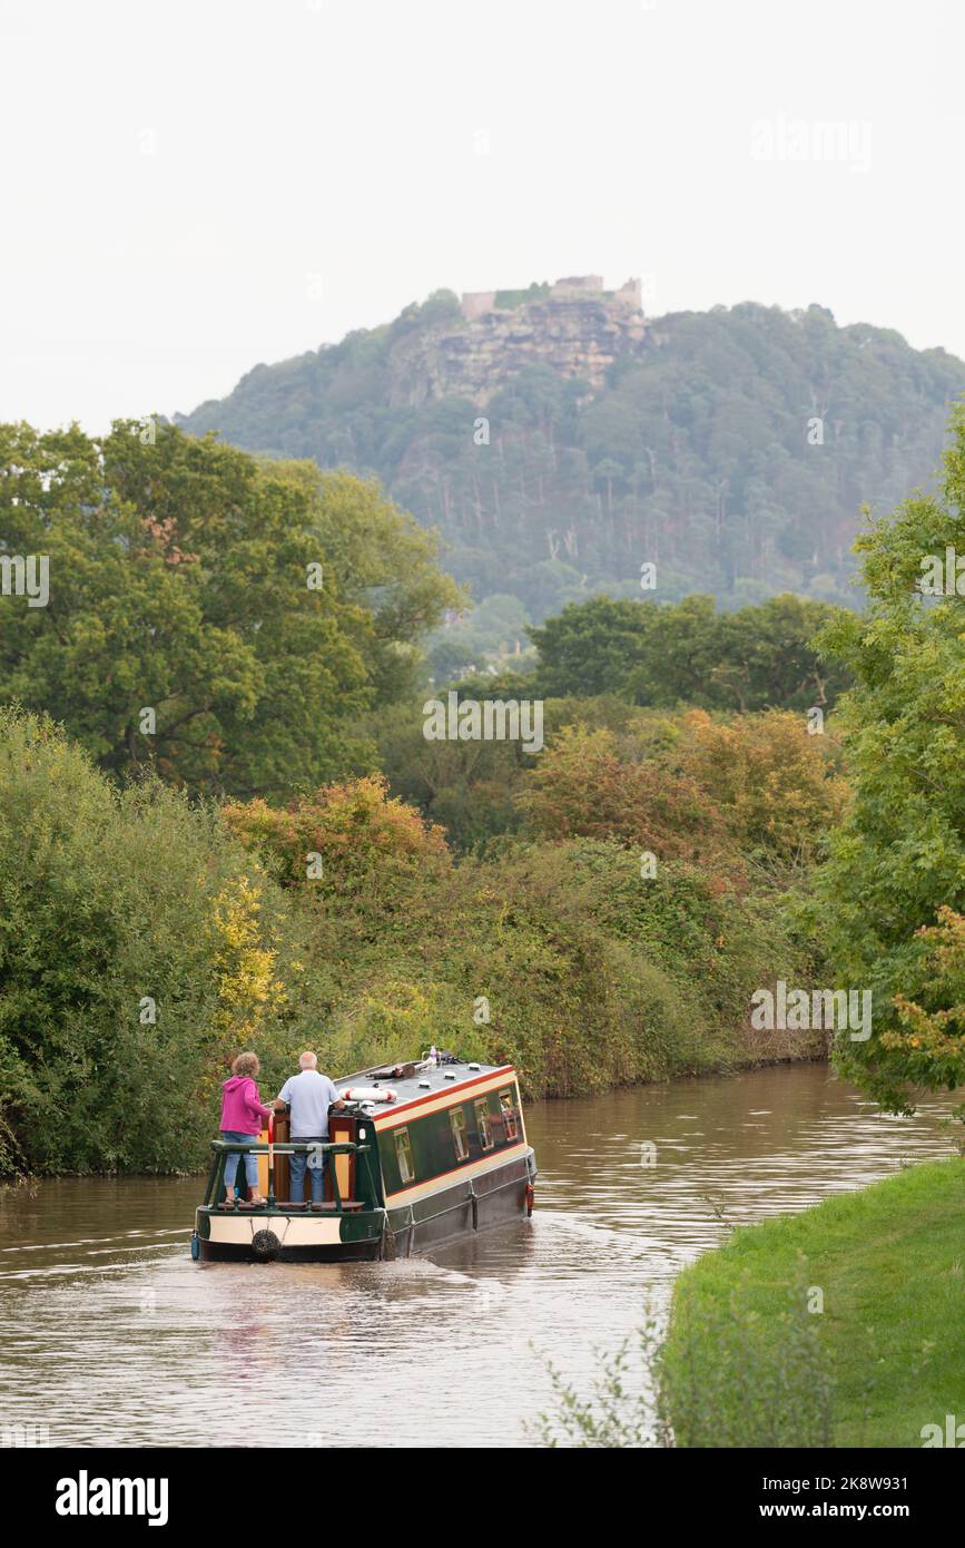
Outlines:
{"type": "Polygon", "coordinates": [[[874,1015],[868,1040],[841,1034],[838,1062],[894,1111],[962,1076],[948,1048],[957,1015],[942,1048],[909,1042],[914,1002],[934,1019],[960,1000],[957,926],[945,913],[942,933],[929,927],[942,909],[965,912],[965,602],[922,594],[929,556],[965,553],[963,409],[953,432],[940,495],[906,500],[855,545],[868,615],[823,636],[855,686],[838,711],[854,796],[820,873],[820,921],[838,975],[872,991],[874,1015]],[[928,966],[936,941],[956,947],[948,971],[928,966]]]}

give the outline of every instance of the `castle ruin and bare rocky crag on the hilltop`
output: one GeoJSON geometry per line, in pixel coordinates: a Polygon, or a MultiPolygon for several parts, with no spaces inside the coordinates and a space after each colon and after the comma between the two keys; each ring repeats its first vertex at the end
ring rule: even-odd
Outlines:
{"type": "Polygon", "coordinates": [[[399,341],[390,399],[414,407],[461,396],[484,406],[527,365],[546,365],[597,389],[614,361],[640,348],[646,327],[639,279],[614,291],[603,288],[598,274],[520,291],[469,291],[459,317],[399,341]]]}

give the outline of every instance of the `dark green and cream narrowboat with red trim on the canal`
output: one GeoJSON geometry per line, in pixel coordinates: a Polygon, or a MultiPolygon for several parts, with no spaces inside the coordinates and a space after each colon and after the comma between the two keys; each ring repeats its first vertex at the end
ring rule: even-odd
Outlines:
{"type": "MultiPolygon", "coordinates": [[[[487,1226],[529,1217],[537,1163],[526,1139],[512,1065],[433,1054],[334,1082],[343,1108],[329,1113],[325,1144],[297,1144],[275,1119],[247,1147],[212,1141],[192,1257],[331,1263],[410,1257],[487,1226]],[[258,1155],[258,1194],[224,1203],[230,1150],[258,1155]],[[325,1166],[320,1203],[291,1200],[288,1158],[325,1166]]],[[[244,1166],[238,1167],[241,1183],[244,1166]]],[[[305,1180],[306,1194],[311,1192],[305,1180]]],[[[243,1192],[243,1189],[240,1189],[243,1192]]]]}

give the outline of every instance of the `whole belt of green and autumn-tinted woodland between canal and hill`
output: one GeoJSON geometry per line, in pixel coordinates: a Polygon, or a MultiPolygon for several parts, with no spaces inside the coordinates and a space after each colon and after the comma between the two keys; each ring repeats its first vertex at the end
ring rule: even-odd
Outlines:
{"type": "Polygon", "coordinates": [[[3,1170],[195,1167],[241,1045],[272,1085],[435,1042],[530,1096],[821,1053],[750,1031],[778,977],[874,986],[881,1099],[962,1082],[962,604],[917,585],[965,548],[962,418],[863,615],[595,598],[456,686],[538,690],[538,755],[422,735],[458,588],[376,485],[136,424],[0,454],[51,562],[0,599],[3,1170]]]}

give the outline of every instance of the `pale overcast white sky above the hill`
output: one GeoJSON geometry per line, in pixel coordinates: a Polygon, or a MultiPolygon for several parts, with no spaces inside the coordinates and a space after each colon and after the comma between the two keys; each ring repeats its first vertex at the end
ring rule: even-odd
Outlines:
{"type": "Polygon", "coordinates": [[[0,418],[189,410],[439,286],[585,272],[965,358],[963,15],[0,0],[0,418]]]}

